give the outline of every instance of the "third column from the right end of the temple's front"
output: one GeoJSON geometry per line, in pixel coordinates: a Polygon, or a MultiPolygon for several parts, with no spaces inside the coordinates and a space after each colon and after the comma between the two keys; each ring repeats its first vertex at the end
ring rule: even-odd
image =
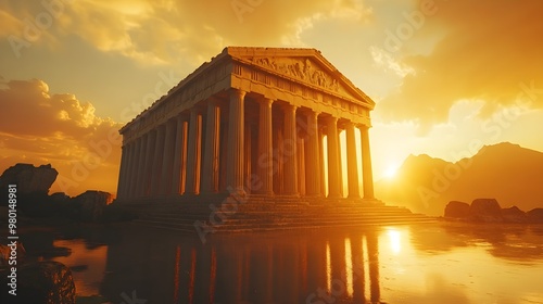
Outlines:
{"type": "Polygon", "coordinates": [[[328,198],[341,197],[338,118],[328,117],[328,198]]]}

